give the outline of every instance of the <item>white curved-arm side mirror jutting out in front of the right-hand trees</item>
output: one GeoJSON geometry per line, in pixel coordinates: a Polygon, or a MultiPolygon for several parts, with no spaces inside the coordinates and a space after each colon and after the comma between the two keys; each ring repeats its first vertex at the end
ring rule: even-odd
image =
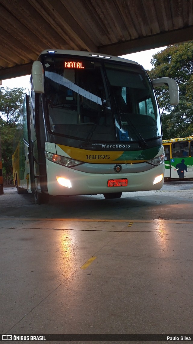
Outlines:
{"type": "Polygon", "coordinates": [[[167,85],[169,87],[170,104],[177,105],[179,103],[179,87],[177,82],[172,78],[158,78],[151,80],[154,87],[167,85]]]}

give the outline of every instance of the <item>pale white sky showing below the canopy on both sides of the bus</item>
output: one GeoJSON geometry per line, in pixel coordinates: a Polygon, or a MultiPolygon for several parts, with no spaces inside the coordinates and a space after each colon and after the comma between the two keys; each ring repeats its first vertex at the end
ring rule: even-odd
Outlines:
{"type": "MultiPolygon", "coordinates": [[[[132,53],[127,55],[122,55],[121,57],[127,58],[128,60],[132,60],[141,64],[145,69],[152,69],[151,59],[152,55],[166,49],[166,46],[156,49],[150,49],[146,51],[140,51],[138,53],[132,53]]],[[[0,87],[8,87],[8,88],[28,88],[30,83],[30,76],[20,76],[18,78],[6,79],[2,80],[2,86],[0,87]]]]}

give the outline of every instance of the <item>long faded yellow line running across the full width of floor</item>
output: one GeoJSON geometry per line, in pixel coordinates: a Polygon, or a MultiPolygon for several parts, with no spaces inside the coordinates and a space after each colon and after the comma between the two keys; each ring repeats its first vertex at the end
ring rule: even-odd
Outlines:
{"type": "Polygon", "coordinates": [[[153,220],[131,220],[131,219],[88,219],[88,218],[31,218],[31,217],[4,217],[0,216],[0,221],[64,221],[64,222],[135,222],[135,223],[183,223],[192,224],[193,220],[164,220],[164,219],[153,219],[153,220]]]}

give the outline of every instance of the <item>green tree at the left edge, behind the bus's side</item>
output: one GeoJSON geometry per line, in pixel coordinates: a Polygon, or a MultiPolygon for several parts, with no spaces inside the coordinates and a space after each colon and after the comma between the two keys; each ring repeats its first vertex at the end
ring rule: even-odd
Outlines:
{"type": "Polygon", "coordinates": [[[15,128],[21,114],[24,88],[0,88],[1,154],[4,183],[10,183],[12,173],[12,146],[15,128]]]}

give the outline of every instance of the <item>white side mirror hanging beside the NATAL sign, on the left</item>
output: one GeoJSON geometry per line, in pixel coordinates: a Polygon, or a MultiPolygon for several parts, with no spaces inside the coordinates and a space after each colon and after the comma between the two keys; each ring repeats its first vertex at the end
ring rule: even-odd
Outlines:
{"type": "Polygon", "coordinates": [[[32,65],[32,83],[35,93],[44,93],[44,67],[40,61],[32,65]]]}

